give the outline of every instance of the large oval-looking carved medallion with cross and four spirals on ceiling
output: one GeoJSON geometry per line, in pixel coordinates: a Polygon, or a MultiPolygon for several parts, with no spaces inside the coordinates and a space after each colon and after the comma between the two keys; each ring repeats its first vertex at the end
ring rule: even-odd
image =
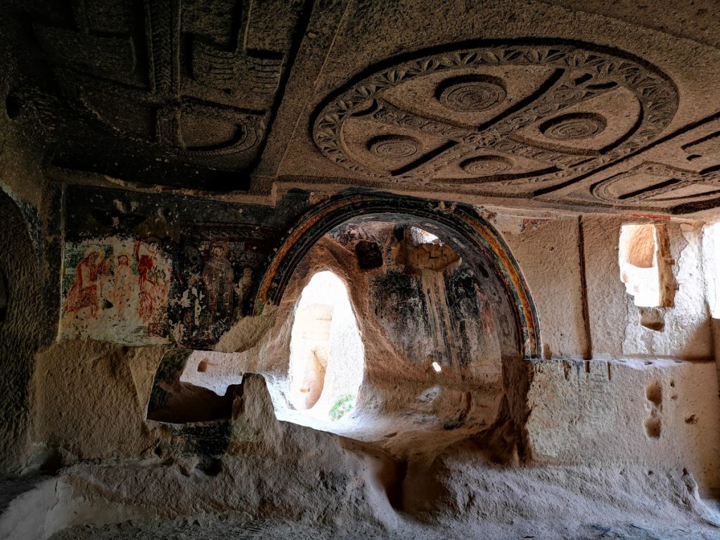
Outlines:
{"type": "Polygon", "coordinates": [[[677,107],[672,81],[638,58],[516,42],[377,71],[325,102],[312,134],[373,179],[527,192],[641,148],[677,107]]]}

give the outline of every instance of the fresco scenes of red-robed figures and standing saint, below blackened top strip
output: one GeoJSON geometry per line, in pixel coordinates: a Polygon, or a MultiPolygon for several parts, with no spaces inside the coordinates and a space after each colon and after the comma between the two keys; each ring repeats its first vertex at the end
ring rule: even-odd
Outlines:
{"type": "Polygon", "coordinates": [[[68,242],[60,336],[207,348],[243,315],[262,233],[198,225],[194,236],[68,242]],[[249,253],[248,253],[249,251],[249,253]]]}

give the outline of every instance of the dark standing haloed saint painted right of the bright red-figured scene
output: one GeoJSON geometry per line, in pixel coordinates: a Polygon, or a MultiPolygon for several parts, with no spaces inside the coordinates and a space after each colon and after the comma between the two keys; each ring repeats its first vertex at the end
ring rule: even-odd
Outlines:
{"type": "Polygon", "coordinates": [[[212,256],[202,269],[207,310],[212,318],[225,325],[233,315],[235,273],[233,265],[228,261],[227,243],[212,243],[210,253],[212,256]]]}

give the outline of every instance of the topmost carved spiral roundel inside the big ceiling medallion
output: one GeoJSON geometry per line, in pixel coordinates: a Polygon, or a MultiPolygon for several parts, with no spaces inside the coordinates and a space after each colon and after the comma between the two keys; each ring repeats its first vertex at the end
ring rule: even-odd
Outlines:
{"type": "Polygon", "coordinates": [[[443,81],[436,92],[438,101],[456,112],[480,112],[503,102],[507,92],[497,77],[451,77],[443,81]]]}

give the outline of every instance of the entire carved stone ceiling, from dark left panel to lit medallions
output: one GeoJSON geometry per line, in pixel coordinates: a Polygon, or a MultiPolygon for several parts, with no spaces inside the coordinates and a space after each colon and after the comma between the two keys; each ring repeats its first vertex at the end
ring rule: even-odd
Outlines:
{"type": "Polygon", "coordinates": [[[720,207],[720,13],[663,4],[15,2],[6,108],[135,186],[720,207]]]}

